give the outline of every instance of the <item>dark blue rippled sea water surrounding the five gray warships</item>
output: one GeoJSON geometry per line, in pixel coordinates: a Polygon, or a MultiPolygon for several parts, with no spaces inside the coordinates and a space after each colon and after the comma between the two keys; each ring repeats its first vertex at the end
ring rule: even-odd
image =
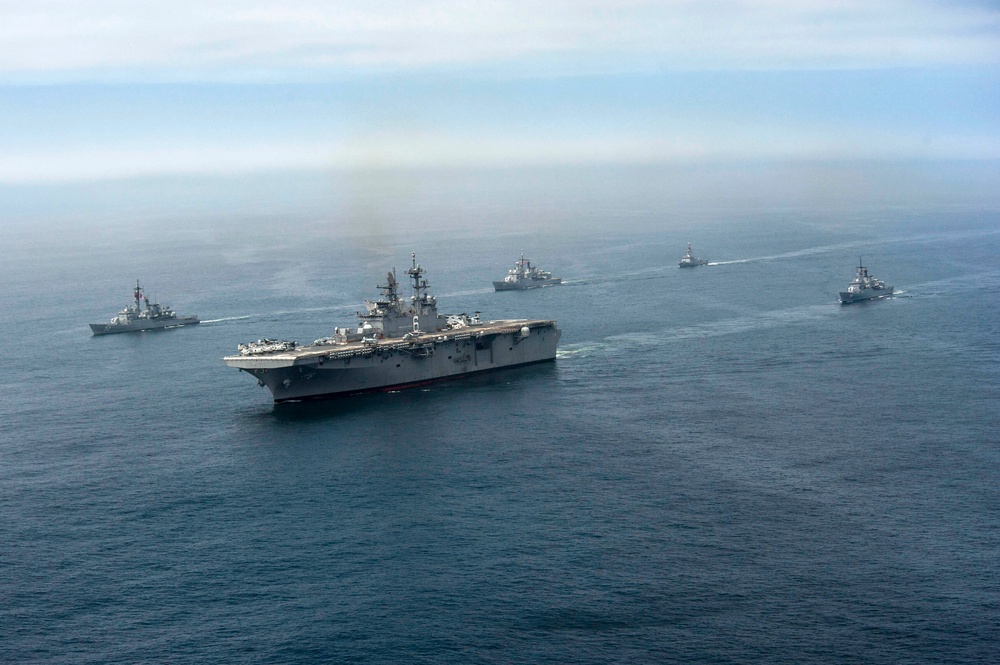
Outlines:
{"type": "Polygon", "coordinates": [[[1000,659],[1000,216],[630,214],[14,227],[0,660],[1000,659]],[[493,293],[522,249],[566,284],[493,293]],[[411,251],[556,362],[282,407],[222,364],[411,251]],[[837,304],[859,256],[896,297],[837,304]],[[136,277],[205,322],[92,337],[136,277]]]}

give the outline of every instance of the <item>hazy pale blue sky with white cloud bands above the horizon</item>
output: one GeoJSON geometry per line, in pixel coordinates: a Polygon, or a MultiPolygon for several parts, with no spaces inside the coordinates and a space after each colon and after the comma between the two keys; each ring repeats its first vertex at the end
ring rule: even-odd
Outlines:
{"type": "Polygon", "coordinates": [[[1000,159],[1000,9],[0,0],[0,183],[762,159],[1000,159]]]}

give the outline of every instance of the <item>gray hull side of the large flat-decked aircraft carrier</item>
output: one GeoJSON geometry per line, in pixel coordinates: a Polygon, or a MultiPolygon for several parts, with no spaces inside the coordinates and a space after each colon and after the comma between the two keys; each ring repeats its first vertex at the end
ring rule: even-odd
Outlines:
{"type": "Polygon", "coordinates": [[[527,338],[502,333],[490,340],[448,340],[428,355],[382,350],[368,356],[293,367],[244,370],[270,389],[275,402],[329,399],[398,390],[477,372],[554,360],[561,331],[532,329],[527,338]]]}

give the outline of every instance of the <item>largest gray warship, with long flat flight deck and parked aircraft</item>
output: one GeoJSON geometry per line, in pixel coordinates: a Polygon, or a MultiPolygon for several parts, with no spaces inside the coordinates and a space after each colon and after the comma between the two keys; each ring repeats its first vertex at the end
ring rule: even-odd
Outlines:
{"type": "Polygon", "coordinates": [[[357,328],[335,328],[304,346],[274,339],[240,344],[223,362],[255,376],[281,403],[401,390],[555,359],[562,334],[555,321],[438,314],[425,271],[411,258],[409,302],[393,268],[378,287],[381,297],[357,313],[357,328]]]}

